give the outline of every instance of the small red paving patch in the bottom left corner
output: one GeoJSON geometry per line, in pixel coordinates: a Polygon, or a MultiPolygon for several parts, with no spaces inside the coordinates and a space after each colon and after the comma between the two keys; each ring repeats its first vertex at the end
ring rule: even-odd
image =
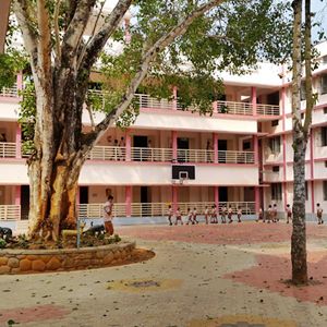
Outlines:
{"type": "Polygon", "coordinates": [[[13,320],[14,324],[23,324],[46,322],[49,319],[61,319],[69,313],[70,311],[63,306],[53,304],[0,310],[0,324],[8,324],[9,320],[13,320]]]}

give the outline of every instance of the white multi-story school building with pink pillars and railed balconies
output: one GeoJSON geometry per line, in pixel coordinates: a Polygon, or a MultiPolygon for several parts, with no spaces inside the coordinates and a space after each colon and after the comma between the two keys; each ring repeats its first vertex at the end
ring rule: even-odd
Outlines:
{"type": "MultiPolygon", "coordinates": [[[[327,43],[318,50],[318,101],[306,153],[308,217],[316,203],[327,211],[327,43]]],[[[213,104],[211,116],[199,116],[196,108],[181,110],[177,89],[171,102],[136,94],[135,123],[125,131],[110,128],[82,169],[80,217],[101,217],[108,193],[114,196],[116,216],[129,222],[124,217],[164,217],[168,204],[203,211],[227,203],[241,206],[247,217],[271,203],[280,213],[292,204],[290,73],[265,63],[249,75],[225,74],[223,81],[225,99],[213,104]]],[[[1,225],[27,219],[27,167],[17,123],[21,87],[17,76],[16,86],[0,94],[1,225]]],[[[304,114],[305,99],[302,108],[304,114]]],[[[97,113],[95,120],[100,119],[97,113]]],[[[86,112],[83,123],[90,129],[86,112]]]]}

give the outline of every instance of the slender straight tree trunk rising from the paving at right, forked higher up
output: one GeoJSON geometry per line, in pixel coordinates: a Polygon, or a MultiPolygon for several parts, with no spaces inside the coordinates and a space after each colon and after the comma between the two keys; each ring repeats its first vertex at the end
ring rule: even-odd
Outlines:
{"type": "Polygon", "coordinates": [[[292,121],[293,121],[293,231],[291,241],[292,282],[307,283],[306,228],[305,228],[305,152],[311,133],[314,95],[312,89],[313,48],[311,40],[311,1],[305,0],[304,50],[302,49],[302,0],[292,3],[293,56],[292,56],[292,121]],[[302,51],[303,50],[303,51],[302,51]],[[304,52],[304,55],[302,55],[304,52]],[[302,63],[305,64],[305,120],[301,118],[301,77],[302,63]]]}

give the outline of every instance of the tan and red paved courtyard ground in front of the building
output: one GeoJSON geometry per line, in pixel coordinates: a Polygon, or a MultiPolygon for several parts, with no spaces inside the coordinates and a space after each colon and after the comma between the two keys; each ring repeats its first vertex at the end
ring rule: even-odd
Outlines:
{"type": "Polygon", "coordinates": [[[290,278],[286,223],[124,227],[140,264],[0,277],[0,326],[327,326],[327,228],[308,225],[312,284],[290,278]]]}

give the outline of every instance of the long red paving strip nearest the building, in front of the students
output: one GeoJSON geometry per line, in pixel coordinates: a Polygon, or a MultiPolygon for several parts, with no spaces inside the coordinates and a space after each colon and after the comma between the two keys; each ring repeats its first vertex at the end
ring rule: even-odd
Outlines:
{"type": "MultiPolygon", "coordinates": [[[[134,226],[117,228],[120,235],[156,241],[180,241],[206,244],[250,244],[287,242],[291,239],[291,225],[283,222],[233,222],[231,225],[198,226],[134,226]]],[[[308,239],[327,238],[327,227],[307,225],[308,239]]]]}

